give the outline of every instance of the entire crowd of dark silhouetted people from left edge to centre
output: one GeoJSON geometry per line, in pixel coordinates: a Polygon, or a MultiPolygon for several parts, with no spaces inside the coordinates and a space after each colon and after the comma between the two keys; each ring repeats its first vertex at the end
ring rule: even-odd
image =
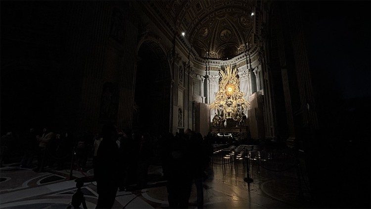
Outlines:
{"type": "Polygon", "coordinates": [[[202,181],[214,137],[203,138],[190,129],[175,136],[169,132],[154,136],[130,129],[118,131],[113,125],[104,125],[99,134],[86,133],[80,137],[47,128],[41,132],[31,128],[24,136],[17,137],[23,145],[18,146],[18,152],[13,152],[17,148],[13,133],[1,137],[1,164],[8,163],[12,155],[17,154],[22,155],[21,167],[41,172],[47,167],[70,169],[73,157],[73,169],[83,171],[87,161],[93,159],[97,208],[111,208],[118,189],[146,188],[152,163],[162,165],[161,179],[167,180],[170,208],[188,206],[192,183],[197,190],[197,207],[203,207],[202,181]]]}

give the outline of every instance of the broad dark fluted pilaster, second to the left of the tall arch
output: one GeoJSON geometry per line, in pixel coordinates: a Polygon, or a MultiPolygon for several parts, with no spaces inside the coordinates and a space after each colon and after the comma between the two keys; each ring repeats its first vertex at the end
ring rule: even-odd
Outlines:
{"type": "Polygon", "coordinates": [[[93,13],[91,14],[93,19],[87,26],[89,36],[87,36],[86,48],[88,53],[83,69],[84,77],[79,108],[79,118],[81,119],[79,126],[81,127],[79,131],[97,131],[99,129],[103,63],[109,35],[109,4],[104,1],[95,1],[89,5],[89,12],[93,13]]]}

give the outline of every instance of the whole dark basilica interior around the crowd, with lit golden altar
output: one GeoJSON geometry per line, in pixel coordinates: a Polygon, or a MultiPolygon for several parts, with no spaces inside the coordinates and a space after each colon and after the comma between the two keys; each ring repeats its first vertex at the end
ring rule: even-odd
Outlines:
{"type": "MultiPolygon", "coordinates": [[[[370,2],[1,1],[0,9],[1,208],[66,208],[75,180],[94,176],[93,154],[80,169],[76,150],[65,169],[20,166],[30,148],[14,144],[30,128],[70,133],[78,147],[105,124],[151,136],[154,153],[165,134],[209,140],[204,208],[370,207],[370,2]]],[[[146,186],[120,189],[113,208],[169,208],[156,154],[145,173],[146,186]]],[[[88,208],[96,185],[81,189],[88,208]]],[[[200,208],[197,198],[193,185],[189,208],[200,208]]]]}

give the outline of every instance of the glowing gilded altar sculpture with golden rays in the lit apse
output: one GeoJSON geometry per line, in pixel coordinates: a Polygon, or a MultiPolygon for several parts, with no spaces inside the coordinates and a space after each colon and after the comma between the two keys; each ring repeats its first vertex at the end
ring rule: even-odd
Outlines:
{"type": "Polygon", "coordinates": [[[235,120],[237,125],[241,125],[246,119],[243,114],[244,108],[250,108],[250,103],[239,90],[238,70],[227,65],[224,71],[219,72],[219,91],[216,93],[215,101],[210,105],[210,109],[217,109],[217,114],[213,118],[213,126],[223,126],[227,118],[235,120]]]}

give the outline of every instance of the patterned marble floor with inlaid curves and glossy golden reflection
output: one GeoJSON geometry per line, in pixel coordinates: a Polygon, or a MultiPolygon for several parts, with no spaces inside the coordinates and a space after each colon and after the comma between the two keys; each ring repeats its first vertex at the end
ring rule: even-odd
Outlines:
{"type": "MultiPolygon", "coordinates": [[[[305,170],[298,169],[290,154],[259,146],[214,145],[208,179],[204,182],[204,208],[312,208],[305,170]],[[249,158],[248,185],[247,157],[249,158]],[[299,174],[299,175],[298,175],[299,174]],[[300,179],[300,181],[299,181],[300,179]]],[[[148,188],[118,191],[113,208],[169,208],[162,168],[151,165],[148,188]]],[[[92,176],[93,169],[73,170],[74,177],[92,176]]],[[[0,207],[2,209],[64,209],[76,191],[69,180],[70,170],[32,169],[9,164],[0,168],[0,207]]],[[[88,208],[97,202],[95,182],[82,188],[88,208]]],[[[189,208],[196,207],[196,189],[192,185],[189,208]]]]}

